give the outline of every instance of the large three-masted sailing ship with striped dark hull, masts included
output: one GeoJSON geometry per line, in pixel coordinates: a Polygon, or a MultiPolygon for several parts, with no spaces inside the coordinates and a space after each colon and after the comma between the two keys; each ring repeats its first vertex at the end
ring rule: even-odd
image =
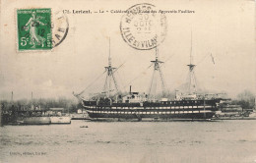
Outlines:
{"type": "MultiPolygon", "coordinates": [[[[110,42],[109,42],[110,44],[110,42]]],[[[110,46],[110,45],[109,45],[110,46]]],[[[110,47],[109,47],[110,48],[110,47]]],[[[160,68],[161,62],[158,57],[156,48],[156,59],[151,61],[154,66],[153,78],[151,81],[150,91],[148,94],[133,92],[131,90],[126,94],[120,93],[115,78],[116,68],[112,67],[110,50],[108,57],[108,66],[105,67],[106,79],[103,91],[95,96],[85,99],[81,93],[74,94],[82,100],[83,107],[88,112],[92,120],[210,120],[218,110],[221,98],[209,95],[198,94],[196,92],[196,79],[194,68],[196,65],[192,62],[190,54],[188,93],[175,94],[175,98],[167,98],[165,91],[165,82],[160,68]],[[162,96],[157,99],[152,93],[154,77],[160,76],[162,96]],[[113,92],[115,89],[115,93],[113,92]],[[164,95],[165,94],[165,95],[164,95]]]]}

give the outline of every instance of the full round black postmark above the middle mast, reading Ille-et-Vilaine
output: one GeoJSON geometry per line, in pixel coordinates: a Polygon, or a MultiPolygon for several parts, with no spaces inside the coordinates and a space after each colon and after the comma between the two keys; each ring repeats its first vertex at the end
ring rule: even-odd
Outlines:
{"type": "Polygon", "coordinates": [[[123,15],[120,23],[125,42],[138,50],[156,48],[166,36],[167,23],[164,14],[156,12],[152,4],[132,6],[123,15]]]}

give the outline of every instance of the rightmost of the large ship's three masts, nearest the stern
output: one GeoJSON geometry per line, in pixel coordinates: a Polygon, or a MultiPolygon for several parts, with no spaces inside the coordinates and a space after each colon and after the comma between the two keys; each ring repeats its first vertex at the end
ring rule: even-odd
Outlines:
{"type": "Polygon", "coordinates": [[[190,64],[187,65],[189,68],[189,75],[188,75],[189,94],[193,94],[197,92],[197,82],[196,82],[196,76],[194,72],[194,68],[196,65],[193,64],[192,46],[193,45],[192,45],[192,31],[191,31],[190,64]]]}

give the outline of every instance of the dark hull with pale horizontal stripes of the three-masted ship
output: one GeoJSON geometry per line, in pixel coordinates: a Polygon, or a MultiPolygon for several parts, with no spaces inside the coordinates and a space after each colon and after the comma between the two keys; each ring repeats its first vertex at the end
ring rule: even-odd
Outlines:
{"type": "Polygon", "coordinates": [[[83,106],[93,120],[208,120],[218,110],[217,100],[165,101],[159,103],[98,104],[83,101],[83,106]]]}

